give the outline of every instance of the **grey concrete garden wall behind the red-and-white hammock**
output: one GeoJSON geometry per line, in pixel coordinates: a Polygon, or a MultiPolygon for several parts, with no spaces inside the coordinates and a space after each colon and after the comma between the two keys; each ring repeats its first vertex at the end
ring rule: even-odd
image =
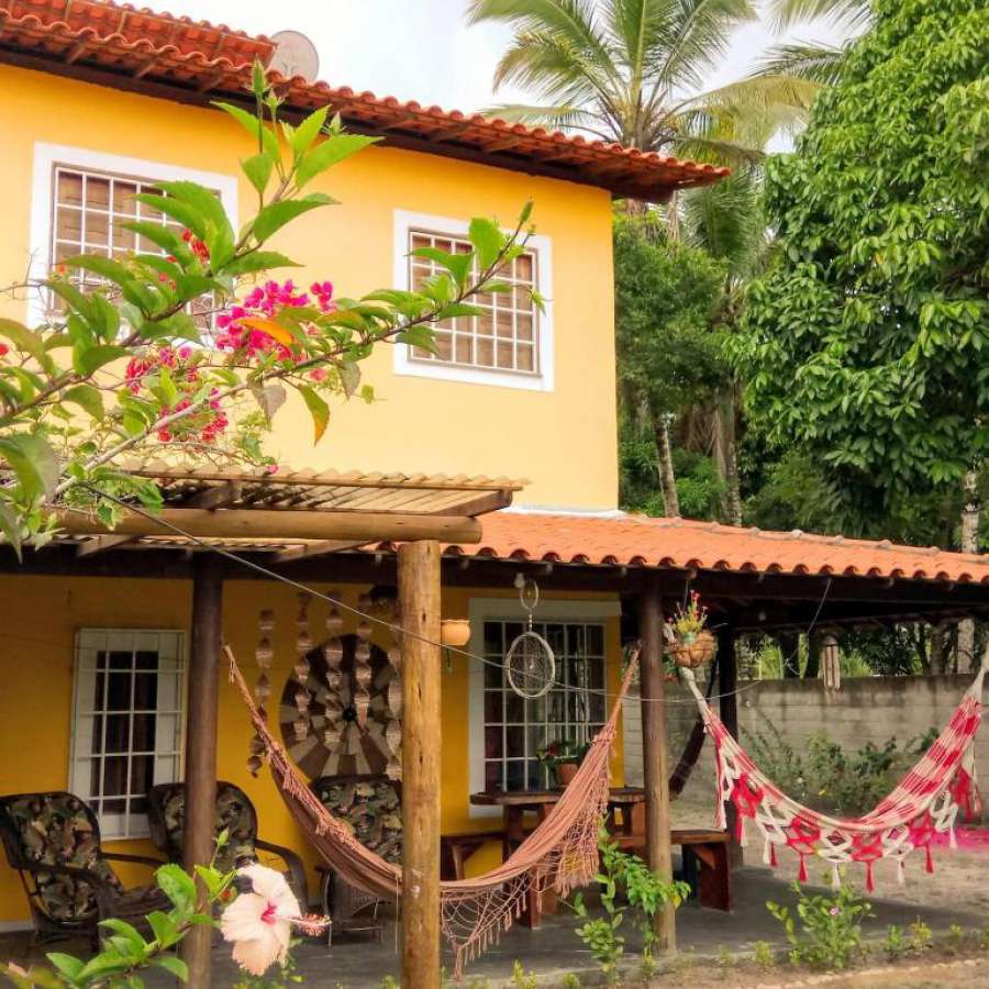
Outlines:
{"type": "MultiPolygon", "coordinates": [[[[881,745],[891,735],[900,743],[944,727],[962,694],[971,684],[968,674],[946,677],[860,677],[844,680],[840,692],[824,690],[821,680],[762,680],[742,682],[738,724],[744,733],[766,733],[767,720],[794,747],[824,732],[854,751],[866,742],[881,745]]],[[[715,689],[716,693],[716,689],[715,689]]],[[[693,725],[697,708],[679,687],[668,685],[670,764],[676,765],[693,725]]],[[[638,699],[625,702],[625,779],[642,782],[642,723],[638,699]]],[[[989,731],[976,737],[976,770],[989,785],[989,731]]],[[[685,797],[713,794],[711,747],[704,745],[685,797]]]]}

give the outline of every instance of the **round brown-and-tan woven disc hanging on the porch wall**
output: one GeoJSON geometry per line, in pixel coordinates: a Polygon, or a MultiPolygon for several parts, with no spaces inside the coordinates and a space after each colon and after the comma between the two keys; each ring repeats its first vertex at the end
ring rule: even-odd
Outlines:
{"type": "Polygon", "coordinates": [[[389,653],[352,634],[327,640],[304,658],[305,681],[296,669],[281,693],[279,721],[289,756],[312,778],[369,773],[399,778],[401,724],[391,707],[398,670],[389,653]],[[303,737],[297,730],[301,694],[303,737]]]}

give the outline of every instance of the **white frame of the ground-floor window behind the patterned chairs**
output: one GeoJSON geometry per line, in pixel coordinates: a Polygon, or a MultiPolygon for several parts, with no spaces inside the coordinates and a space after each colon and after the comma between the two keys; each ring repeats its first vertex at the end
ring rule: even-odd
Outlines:
{"type": "MultiPolygon", "coordinates": [[[[140,636],[156,636],[160,646],[162,636],[174,636],[176,641],[175,647],[175,663],[176,663],[176,676],[177,676],[177,686],[176,686],[176,700],[177,705],[175,709],[169,709],[168,711],[162,711],[156,708],[156,718],[167,716],[167,718],[177,718],[178,721],[178,732],[176,735],[176,746],[178,755],[173,757],[173,765],[175,767],[173,773],[163,774],[162,777],[158,777],[158,766],[157,762],[159,758],[165,758],[166,754],[163,753],[160,756],[157,756],[155,759],[155,769],[153,773],[154,779],[153,784],[159,782],[177,782],[182,779],[185,771],[185,740],[186,740],[186,711],[187,711],[187,692],[188,692],[188,662],[187,662],[187,641],[186,633],[181,629],[121,629],[121,627],[87,627],[79,629],[76,632],[76,648],[75,648],[75,660],[73,664],[73,710],[71,710],[71,725],[69,732],[69,765],[68,765],[68,789],[79,797],[81,800],[86,802],[90,802],[92,799],[92,793],[90,792],[90,771],[91,766],[91,734],[90,736],[84,738],[84,734],[86,732],[86,727],[84,725],[84,719],[93,716],[92,713],[88,712],[88,710],[82,710],[84,694],[82,687],[84,682],[89,684],[91,678],[96,677],[95,664],[90,666],[90,668],[86,668],[86,664],[84,663],[84,657],[86,654],[96,654],[101,649],[110,649],[112,648],[113,637],[118,638],[130,637],[132,645],[130,648],[135,649],[134,641],[140,636]]],[[[133,676],[133,674],[132,674],[133,676]]],[[[91,692],[90,692],[91,694],[91,692]]],[[[133,705],[130,711],[120,711],[119,713],[132,713],[133,705]]],[[[105,712],[100,711],[105,719],[105,712]]],[[[156,721],[157,729],[157,721],[156,721]]],[[[132,725],[133,732],[133,725],[132,725]]],[[[157,749],[157,730],[155,733],[155,742],[157,749]]],[[[133,741],[133,738],[132,738],[133,741]]],[[[114,753],[114,755],[130,755],[131,754],[131,745],[129,744],[126,752],[123,753],[114,753]]],[[[105,757],[105,751],[100,753],[100,757],[105,757]]],[[[130,764],[129,764],[130,769],[130,764]]],[[[130,789],[130,781],[129,781],[130,789]]],[[[136,794],[130,794],[136,796],[136,794]]],[[[97,805],[93,808],[97,814],[97,818],[100,822],[100,834],[103,838],[108,838],[111,841],[129,841],[131,838],[143,838],[147,837],[151,833],[147,818],[144,816],[137,821],[137,826],[134,826],[134,816],[127,812],[123,814],[113,814],[108,815],[101,812],[101,809],[97,805]]]]}

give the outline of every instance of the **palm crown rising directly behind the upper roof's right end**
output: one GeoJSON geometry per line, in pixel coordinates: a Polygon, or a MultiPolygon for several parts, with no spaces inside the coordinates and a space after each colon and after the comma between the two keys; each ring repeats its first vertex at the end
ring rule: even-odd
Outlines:
{"type": "Polygon", "coordinates": [[[766,133],[792,125],[818,89],[768,73],[702,89],[733,31],[755,18],[753,0],[470,0],[468,7],[471,23],[514,29],[496,87],[515,84],[538,100],[493,112],[730,165],[758,160],[766,133]]]}

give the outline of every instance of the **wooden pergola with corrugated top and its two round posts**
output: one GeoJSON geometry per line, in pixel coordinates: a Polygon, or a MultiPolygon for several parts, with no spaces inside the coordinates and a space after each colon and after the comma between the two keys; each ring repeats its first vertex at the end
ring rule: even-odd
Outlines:
{"type": "MultiPolygon", "coordinates": [[[[54,513],[62,530],[56,545],[29,553],[25,564],[32,573],[119,576],[116,564],[127,556],[143,559],[143,567],[137,564],[143,576],[177,576],[173,565],[165,574],[157,566],[164,554],[171,564],[177,558],[191,579],[184,845],[190,870],[213,854],[223,581],[234,573],[251,576],[211,551],[277,565],[369,542],[401,543],[401,623],[411,633],[402,644],[402,867],[404,888],[415,890],[403,903],[402,984],[438,986],[441,542],[478,542],[478,516],[511,504],[522,482],[359,471],[181,470],[163,464],[133,465],[130,473],[155,479],[164,498],[159,512],[135,505],[111,530],[91,513],[59,510],[54,513]]],[[[326,569],[325,560],[318,563],[326,569]]],[[[210,985],[210,947],[209,927],[193,927],[184,941],[195,989],[210,985]]]]}

